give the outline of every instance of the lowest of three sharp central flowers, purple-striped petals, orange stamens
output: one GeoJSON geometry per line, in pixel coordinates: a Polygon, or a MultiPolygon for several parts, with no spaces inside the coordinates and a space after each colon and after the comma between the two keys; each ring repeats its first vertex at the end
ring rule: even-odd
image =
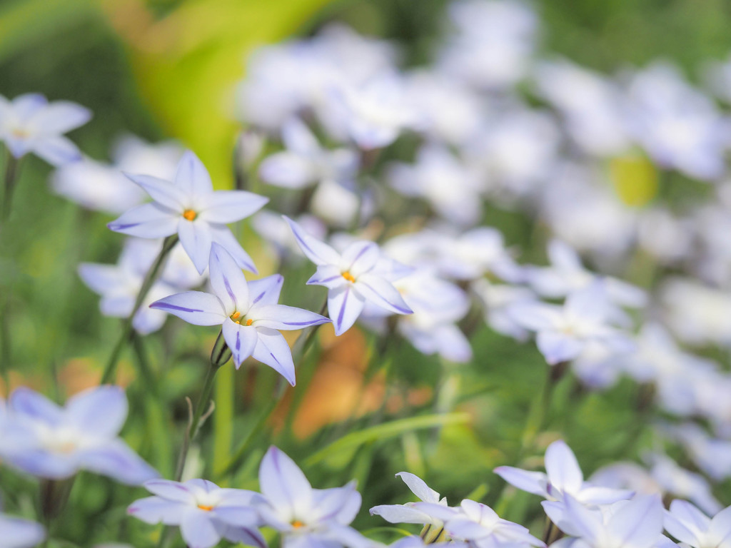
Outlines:
{"type": "Polygon", "coordinates": [[[221,325],[237,369],[251,356],[295,386],[292,351],[277,330],[300,330],[330,320],[301,308],[278,305],[284,278],[276,274],[247,283],[233,256],[217,243],[211,246],[209,269],[214,294],[178,293],[153,302],[150,307],[189,324],[221,325]]]}

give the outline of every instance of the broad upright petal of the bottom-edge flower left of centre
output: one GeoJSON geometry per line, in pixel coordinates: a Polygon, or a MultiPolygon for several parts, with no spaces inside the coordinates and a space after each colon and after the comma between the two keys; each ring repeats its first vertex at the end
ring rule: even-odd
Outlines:
{"type": "Polygon", "coordinates": [[[305,516],[312,506],[312,487],[298,465],[271,446],[259,467],[259,487],[280,517],[305,516]]]}

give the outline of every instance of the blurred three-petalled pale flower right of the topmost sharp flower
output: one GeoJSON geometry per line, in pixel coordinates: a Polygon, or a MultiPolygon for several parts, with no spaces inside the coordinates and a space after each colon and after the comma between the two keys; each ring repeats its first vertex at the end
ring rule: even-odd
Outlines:
{"type": "Polygon", "coordinates": [[[302,189],[324,180],[343,183],[355,177],[357,153],[346,148],[334,151],[321,148],[299,118],[291,118],[284,124],[281,138],[287,150],[268,156],[260,164],[259,175],[265,182],[302,189]]]}

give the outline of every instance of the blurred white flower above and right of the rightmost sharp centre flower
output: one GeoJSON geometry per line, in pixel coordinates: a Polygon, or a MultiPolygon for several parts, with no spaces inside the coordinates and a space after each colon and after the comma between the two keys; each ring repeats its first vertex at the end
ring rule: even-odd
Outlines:
{"type": "Polygon", "coordinates": [[[480,178],[440,145],[425,145],[414,165],[391,164],[390,185],[406,196],[422,197],[440,216],[459,226],[480,221],[480,178]]]}

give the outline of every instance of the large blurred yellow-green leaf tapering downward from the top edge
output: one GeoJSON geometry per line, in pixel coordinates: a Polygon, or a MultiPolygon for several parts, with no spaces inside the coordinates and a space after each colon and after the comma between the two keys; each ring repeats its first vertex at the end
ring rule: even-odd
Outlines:
{"type": "Polygon", "coordinates": [[[153,20],[140,0],[108,0],[105,8],[129,45],[152,112],[200,156],[221,188],[232,183],[234,94],[246,55],[292,34],[328,1],[189,0],[162,20],[153,20]]]}

